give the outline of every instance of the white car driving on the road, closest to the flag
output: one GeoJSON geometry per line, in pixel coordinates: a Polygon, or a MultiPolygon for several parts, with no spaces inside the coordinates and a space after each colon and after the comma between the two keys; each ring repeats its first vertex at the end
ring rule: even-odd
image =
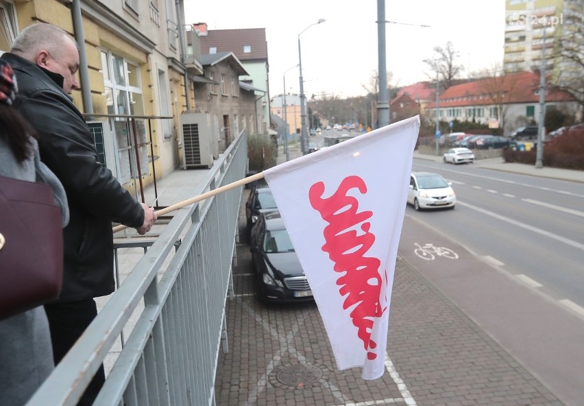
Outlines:
{"type": "Polygon", "coordinates": [[[423,208],[454,208],[457,195],[439,174],[432,172],[412,172],[408,203],[419,211],[423,208]]]}

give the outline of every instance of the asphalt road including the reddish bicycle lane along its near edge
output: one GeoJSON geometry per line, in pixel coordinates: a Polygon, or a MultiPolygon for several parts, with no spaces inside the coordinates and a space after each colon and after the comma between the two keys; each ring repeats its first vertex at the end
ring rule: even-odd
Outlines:
{"type": "Polygon", "coordinates": [[[444,176],[458,202],[446,211],[409,207],[400,254],[566,404],[581,405],[581,184],[422,160],[413,170],[444,176]],[[434,259],[416,254],[428,243],[459,258],[431,247],[434,259]]]}

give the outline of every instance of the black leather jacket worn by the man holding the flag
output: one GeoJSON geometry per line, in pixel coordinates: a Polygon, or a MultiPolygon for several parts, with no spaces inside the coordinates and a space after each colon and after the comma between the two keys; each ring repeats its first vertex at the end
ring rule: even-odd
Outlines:
{"type": "Polygon", "coordinates": [[[63,77],[4,53],[16,73],[14,102],[40,135],[40,158],[67,193],[71,218],[64,233],[64,278],[59,302],[104,296],[114,291],[112,222],[140,227],[144,211],[97,159],[93,136],[63,77]]]}

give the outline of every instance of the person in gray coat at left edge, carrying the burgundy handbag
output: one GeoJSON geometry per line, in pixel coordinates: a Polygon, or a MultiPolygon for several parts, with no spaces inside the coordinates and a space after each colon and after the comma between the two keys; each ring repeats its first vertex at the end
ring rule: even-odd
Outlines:
{"type": "MultiPolygon", "coordinates": [[[[16,91],[10,64],[0,60],[0,175],[49,184],[64,227],[69,222],[65,191],[40,162],[34,131],[11,106],[16,91]]],[[[24,405],[53,368],[49,322],[42,306],[0,320],[0,405],[24,405]]]]}

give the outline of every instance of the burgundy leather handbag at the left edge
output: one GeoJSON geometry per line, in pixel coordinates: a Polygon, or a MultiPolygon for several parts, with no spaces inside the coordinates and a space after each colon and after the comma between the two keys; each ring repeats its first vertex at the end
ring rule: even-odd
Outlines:
{"type": "Polygon", "coordinates": [[[47,184],[0,176],[0,320],[58,297],[61,210],[47,184]]]}

